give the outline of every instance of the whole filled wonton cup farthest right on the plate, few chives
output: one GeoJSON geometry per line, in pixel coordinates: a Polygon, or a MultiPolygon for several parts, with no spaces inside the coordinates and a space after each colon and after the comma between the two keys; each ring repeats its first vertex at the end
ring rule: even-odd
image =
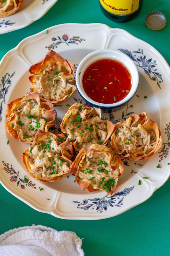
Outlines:
{"type": "Polygon", "coordinates": [[[125,154],[125,159],[140,161],[160,150],[162,136],[158,125],[150,118],[147,120],[143,112],[116,124],[111,145],[117,153],[125,154]]]}

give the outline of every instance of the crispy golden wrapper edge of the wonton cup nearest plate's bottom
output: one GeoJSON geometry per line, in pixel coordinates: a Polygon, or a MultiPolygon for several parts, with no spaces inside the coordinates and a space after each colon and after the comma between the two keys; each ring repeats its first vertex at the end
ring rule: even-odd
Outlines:
{"type": "MultiPolygon", "coordinates": [[[[106,146],[103,146],[103,145],[98,145],[98,144],[93,144],[93,145],[90,145],[88,147],[84,147],[80,150],[80,152],[77,154],[76,158],[75,158],[75,161],[72,163],[72,166],[70,168],[70,171],[72,174],[75,175],[75,180],[77,182],[77,184],[80,186],[80,188],[82,190],[85,190],[87,189],[88,192],[94,192],[94,191],[98,191],[99,189],[94,189],[90,183],[90,181],[84,181],[84,180],[81,180],[78,178],[79,176],[79,163],[81,162],[82,158],[85,157],[85,155],[88,155],[88,153],[90,153],[90,151],[93,151],[93,152],[103,152],[103,153],[109,153],[110,154],[110,159],[109,159],[109,162],[110,162],[110,166],[113,170],[115,170],[117,167],[119,167],[120,169],[120,173],[119,173],[119,176],[122,175],[123,173],[123,170],[124,170],[124,166],[122,164],[122,161],[120,159],[120,157],[118,155],[113,155],[113,151],[106,147],[106,146]]],[[[118,181],[118,177],[115,179],[115,183],[113,185],[113,188],[110,189],[110,191],[106,191],[107,194],[109,195],[112,195],[116,186],[117,186],[117,181],[118,181]]],[[[104,190],[105,191],[105,190],[104,190]]]]}

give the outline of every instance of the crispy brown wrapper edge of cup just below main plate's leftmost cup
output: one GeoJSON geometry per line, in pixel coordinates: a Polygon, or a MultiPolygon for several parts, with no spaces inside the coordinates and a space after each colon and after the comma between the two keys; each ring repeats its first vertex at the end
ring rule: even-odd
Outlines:
{"type": "MultiPolygon", "coordinates": [[[[46,138],[47,135],[51,135],[51,136],[56,136],[58,138],[60,137],[63,137],[63,134],[58,134],[58,135],[55,135],[53,133],[50,133],[50,132],[44,132],[44,131],[41,131],[41,130],[38,130],[38,132],[36,133],[35,135],[35,138],[34,138],[34,141],[32,143],[31,146],[34,146],[36,144],[37,141],[40,141],[42,140],[44,137],[46,138]]],[[[73,146],[72,144],[69,142],[69,141],[65,141],[63,143],[61,143],[60,145],[58,145],[59,147],[62,148],[61,150],[61,155],[62,157],[67,160],[68,162],[70,162],[70,165],[72,164],[72,161],[70,160],[73,156],[73,146]],[[68,152],[69,151],[69,152],[68,152]]],[[[63,177],[65,177],[67,175],[67,173],[69,172],[69,170],[67,172],[65,172],[64,174],[60,175],[60,176],[57,176],[57,177],[51,177],[51,180],[49,179],[43,179],[41,178],[41,174],[42,174],[42,169],[41,167],[37,167],[35,168],[35,170],[31,170],[29,168],[29,157],[28,157],[28,152],[29,152],[29,149],[26,150],[25,152],[22,153],[22,162],[23,164],[25,165],[26,169],[28,170],[29,173],[33,173],[33,178],[37,179],[37,180],[40,180],[42,182],[55,182],[57,180],[60,180],[62,179],[63,177]]]]}

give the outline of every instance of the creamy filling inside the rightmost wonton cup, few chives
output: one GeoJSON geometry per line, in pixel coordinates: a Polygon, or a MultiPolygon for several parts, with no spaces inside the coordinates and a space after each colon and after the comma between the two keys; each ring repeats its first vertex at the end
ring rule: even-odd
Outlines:
{"type": "Polygon", "coordinates": [[[134,156],[142,156],[155,148],[156,135],[153,131],[147,131],[141,124],[133,127],[125,123],[116,131],[115,143],[120,151],[127,149],[134,156]]]}

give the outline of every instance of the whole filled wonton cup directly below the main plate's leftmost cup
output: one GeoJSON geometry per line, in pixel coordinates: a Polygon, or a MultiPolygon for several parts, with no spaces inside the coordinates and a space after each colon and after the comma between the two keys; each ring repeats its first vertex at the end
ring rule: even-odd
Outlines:
{"type": "MultiPolygon", "coordinates": [[[[63,134],[55,135],[39,130],[32,145],[22,154],[22,161],[33,178],[43,182],[62,179],[69,172],[73,146],[69,141],[59,145],[63,134]]],[[[64,140],[64,139],[63,139],[64,140]]]]}

